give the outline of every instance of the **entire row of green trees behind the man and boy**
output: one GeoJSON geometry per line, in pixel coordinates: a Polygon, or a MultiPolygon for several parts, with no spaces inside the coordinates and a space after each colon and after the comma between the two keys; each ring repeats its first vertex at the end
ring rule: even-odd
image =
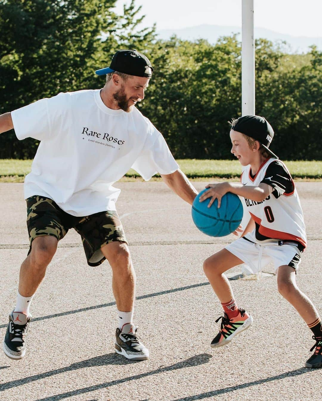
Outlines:
{"type": "MultiPolygon", "coordinates": [[[[177,158],[231,158],[228,120],[241,114],[241,46],[236,35],[157,40],[132,0],[0,0],[0,112],[60,91],[104,85],[94,71],[116,50],[135,48],[154,67],[137,107],[177,158]]],[[[320,159],[322,53],[289,55],[286,45],[255,41],[256,113],[272,124],[273,150],[285,159],[320,159]]],[[[11,135],[11,136],[10,136],[11,135]]],[[[0,137],[0,157],[33,157],[37,142],[0,137]],[[29,141],[29,142],[28,142],[29,141]]]]}

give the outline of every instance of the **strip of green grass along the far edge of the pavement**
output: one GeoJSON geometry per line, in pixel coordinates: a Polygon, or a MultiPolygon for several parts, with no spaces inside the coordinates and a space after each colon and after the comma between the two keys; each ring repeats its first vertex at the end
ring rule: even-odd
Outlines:
{"type": "MultiPolygon", "coordinates": [[[[237,160],[177,160],[181,170],[189,178],[234,178],[240,176],[240,164],[237,160]]],[[[24,176],[31,170],[32,160],[0,159],[0,182],[23,182],[24,176]]],[[[322,161],[285,162],[293,178],[321,179],[322,161]]],[[[139,178],[139,174],[130,169],[126,177],[139,178]]]]}

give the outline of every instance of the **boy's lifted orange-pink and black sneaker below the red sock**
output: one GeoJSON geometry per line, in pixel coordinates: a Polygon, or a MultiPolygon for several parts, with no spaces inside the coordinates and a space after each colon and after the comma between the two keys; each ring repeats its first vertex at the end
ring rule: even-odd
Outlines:
{"type": "Polygon", "coordinates": [[[221,325],[219,333],[210,344],[212,348],[217,348],[228,344],[228,342],[230,342],[234,336],[236,336],[236,334],[241,333],[251,326],[253,323],[253,318],[251,315],[245,312],[245,309],[238,308],[238,310],[239,314],[235,318],[229,319],[227,314],[224,313],[224,316],[220,316],[216,320],[217,323],[221,318],[221,325]]]}

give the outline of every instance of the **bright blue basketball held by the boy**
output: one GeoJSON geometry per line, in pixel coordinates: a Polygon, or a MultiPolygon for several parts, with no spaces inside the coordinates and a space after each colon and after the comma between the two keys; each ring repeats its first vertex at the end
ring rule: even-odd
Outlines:
{"type": "Polygon", "coordinates": [[[243,218],[243,205],[237,195],[227,192],[208,208],[211,198],[199,202],[200,196],[209,188],[202,190],[192,204],[192,220],[196,227],[211,237],[224,237],[236,230],[243,218]]]}

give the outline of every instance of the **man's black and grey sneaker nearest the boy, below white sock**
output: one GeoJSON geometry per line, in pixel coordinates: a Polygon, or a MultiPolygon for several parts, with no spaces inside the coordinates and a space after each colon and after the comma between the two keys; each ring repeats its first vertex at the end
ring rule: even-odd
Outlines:
{"type": "Polygon", "coordinates": [[[116,329],[115,352],[131,360],[149,358],[149,350],[137,338],[137,327],[132,323],[123,325],[122,330],[116,329]]]}

